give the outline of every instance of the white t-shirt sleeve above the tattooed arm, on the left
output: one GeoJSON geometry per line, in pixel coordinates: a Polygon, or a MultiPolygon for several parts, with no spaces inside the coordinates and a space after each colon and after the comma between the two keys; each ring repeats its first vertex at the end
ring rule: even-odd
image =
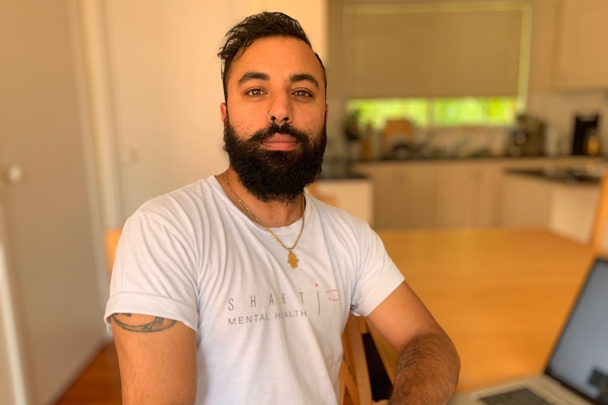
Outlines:
{"type": "Polygon", "coordinates": [[[114,313],[179,320],[197,330],[195,254],[187,232],[162,216],[138,211],[116,249],[104,321],[114,313]]]}

